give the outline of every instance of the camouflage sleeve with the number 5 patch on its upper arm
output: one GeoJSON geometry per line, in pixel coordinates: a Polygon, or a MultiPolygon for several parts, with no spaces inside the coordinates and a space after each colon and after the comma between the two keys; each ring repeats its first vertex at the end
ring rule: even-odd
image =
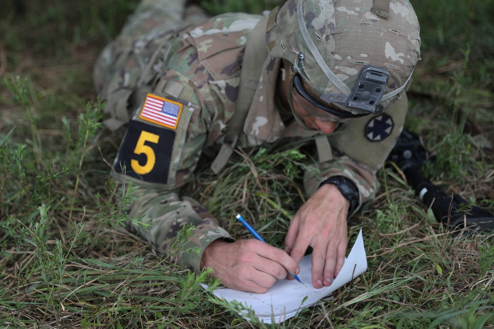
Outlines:
{"type": "MultiPolygon", "coordinates": [[[[194,171],[205,147],[211,116],[202,97],[187,83],[184,75],[168,70],[152,92],[153,95],[161,95],[164,83],[171,83],[175,88],[179,85],[183,87],[179,88],[182,91],[176,95],[177,98],[162,95],[165,100],[171,99],[183,105],[176,128],[153,125],[143,120],[143,110],[138,110],[129,122],[114,169],[122,182],[132,180],[139,186],[137,200],[132,205],[129,215],[149,224],[145,229],[129,222],[127,228],[142,236],[158,253],[171,256],[170,260],[200,272],[201,257],[209,243],[216,239],[233,241],[204,206],[191,198],[179,197],[177,193],[181,186],[194,177],[194,171]],[[138,114],[139,111],[141,114],[138,114]],[[135,132],[132,130],[134,127],[135,132]],[[136,145],[139,145],[143,136],[142,131],[148,131],[159,139],[157,138],[156,144],[145,142],[141,151],[137,150],[136,145]],[[125,174],[122,170],[122,173],[118,173],[122,163],[131,164],[133,159],[139,159],[135,153],[150,150],[144,148],[147,146],[155,151],[155,164],[148,173],[136,175],[132,172],[132,166],[128,165],[125,174]],[[193,224],[195,229],[178,246],[179,250],[170,250],[171,246],[177,247],[177,235],[185,224],[193,224]],[[199,248],[199,254],[188,251],[191,248],[199,248]]],[[[147,160],[141,157],[142,161],[147,160]]]]}

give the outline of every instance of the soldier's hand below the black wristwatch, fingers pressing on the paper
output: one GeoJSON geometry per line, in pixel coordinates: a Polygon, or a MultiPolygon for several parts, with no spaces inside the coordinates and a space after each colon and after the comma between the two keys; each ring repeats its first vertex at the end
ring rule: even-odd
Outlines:
{"type": "Polygon", "coordinates": [[[285,251],[298,263],[310,246],[312,285],[329,286],[345,262],[350,203],[333,184],[322,185],[290,222],[285,251]]]}

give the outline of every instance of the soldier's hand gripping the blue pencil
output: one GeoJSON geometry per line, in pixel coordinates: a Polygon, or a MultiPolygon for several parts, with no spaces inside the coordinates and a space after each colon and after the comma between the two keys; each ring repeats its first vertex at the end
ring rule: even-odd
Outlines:
{"type": "Polygon", "coordinates": [[[267,243],[238,240],[232,243],[213,241],[201,258],[202,268],[212,268],[211,276],[219,278],[228,288],[264,293],[277,279],[290,273],[298,274],[298,262],[267,243]]]}

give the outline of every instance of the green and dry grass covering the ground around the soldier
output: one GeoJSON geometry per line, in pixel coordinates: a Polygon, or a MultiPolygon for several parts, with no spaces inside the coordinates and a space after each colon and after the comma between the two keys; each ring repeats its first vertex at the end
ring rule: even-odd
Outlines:
{"type": "MultiPolygon", "coordinates": [[[[275,5],[240,2],[204,6],[275,5]]],[[[476,131],[494,143],[494,1],[412,2],[423,46],[406,125],[437,155],[423,174],[492,211],[494,156],[476,131]]],[[[363,228],[368,271],[278,327],[251,326],[202,291],[205,274],[127,233],[132,186],[117,190],[109,177],[122,134],[102,129],[90,72],[136,4],[0,5],[0,328],[494,328],[492,234],[454,239],[389,168],[371,207],[349,222],[350,243],[363,228]]],[[[242,154],[219,176],[203,164],[183,192],[235,237],[247,237],[234,220],[242,213],[282,247],[304,201],[301,156],[242,154]]]]}

